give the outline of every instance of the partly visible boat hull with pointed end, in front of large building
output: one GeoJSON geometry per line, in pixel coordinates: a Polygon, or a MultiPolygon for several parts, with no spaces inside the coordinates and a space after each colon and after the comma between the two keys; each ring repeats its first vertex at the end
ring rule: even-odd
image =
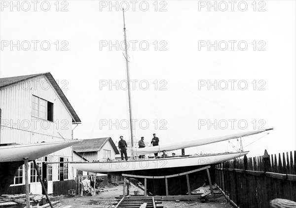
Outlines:
{"type": "Polygon", "coordinates": [[[72,146],[81,140],[41,142],[33,144],[0,144],[0,196],[13,183],[17,169],[24,165],[25,158],[36,160],[45,155],[72,146]]]}

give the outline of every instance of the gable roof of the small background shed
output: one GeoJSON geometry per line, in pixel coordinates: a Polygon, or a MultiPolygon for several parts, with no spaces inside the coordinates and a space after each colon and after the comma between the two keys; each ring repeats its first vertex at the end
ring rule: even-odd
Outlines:
{"type": "Polygon", "coordinates": [[[107,141],[110,142],[112,148],[115,151],[115,154],[119,154],[118,149],[116,148],[111,137],[84,139],[82,142],[79,142],[79,144],[74,144],[73,150],[76,152],[98,152],[103,148],[107,141]]]}

